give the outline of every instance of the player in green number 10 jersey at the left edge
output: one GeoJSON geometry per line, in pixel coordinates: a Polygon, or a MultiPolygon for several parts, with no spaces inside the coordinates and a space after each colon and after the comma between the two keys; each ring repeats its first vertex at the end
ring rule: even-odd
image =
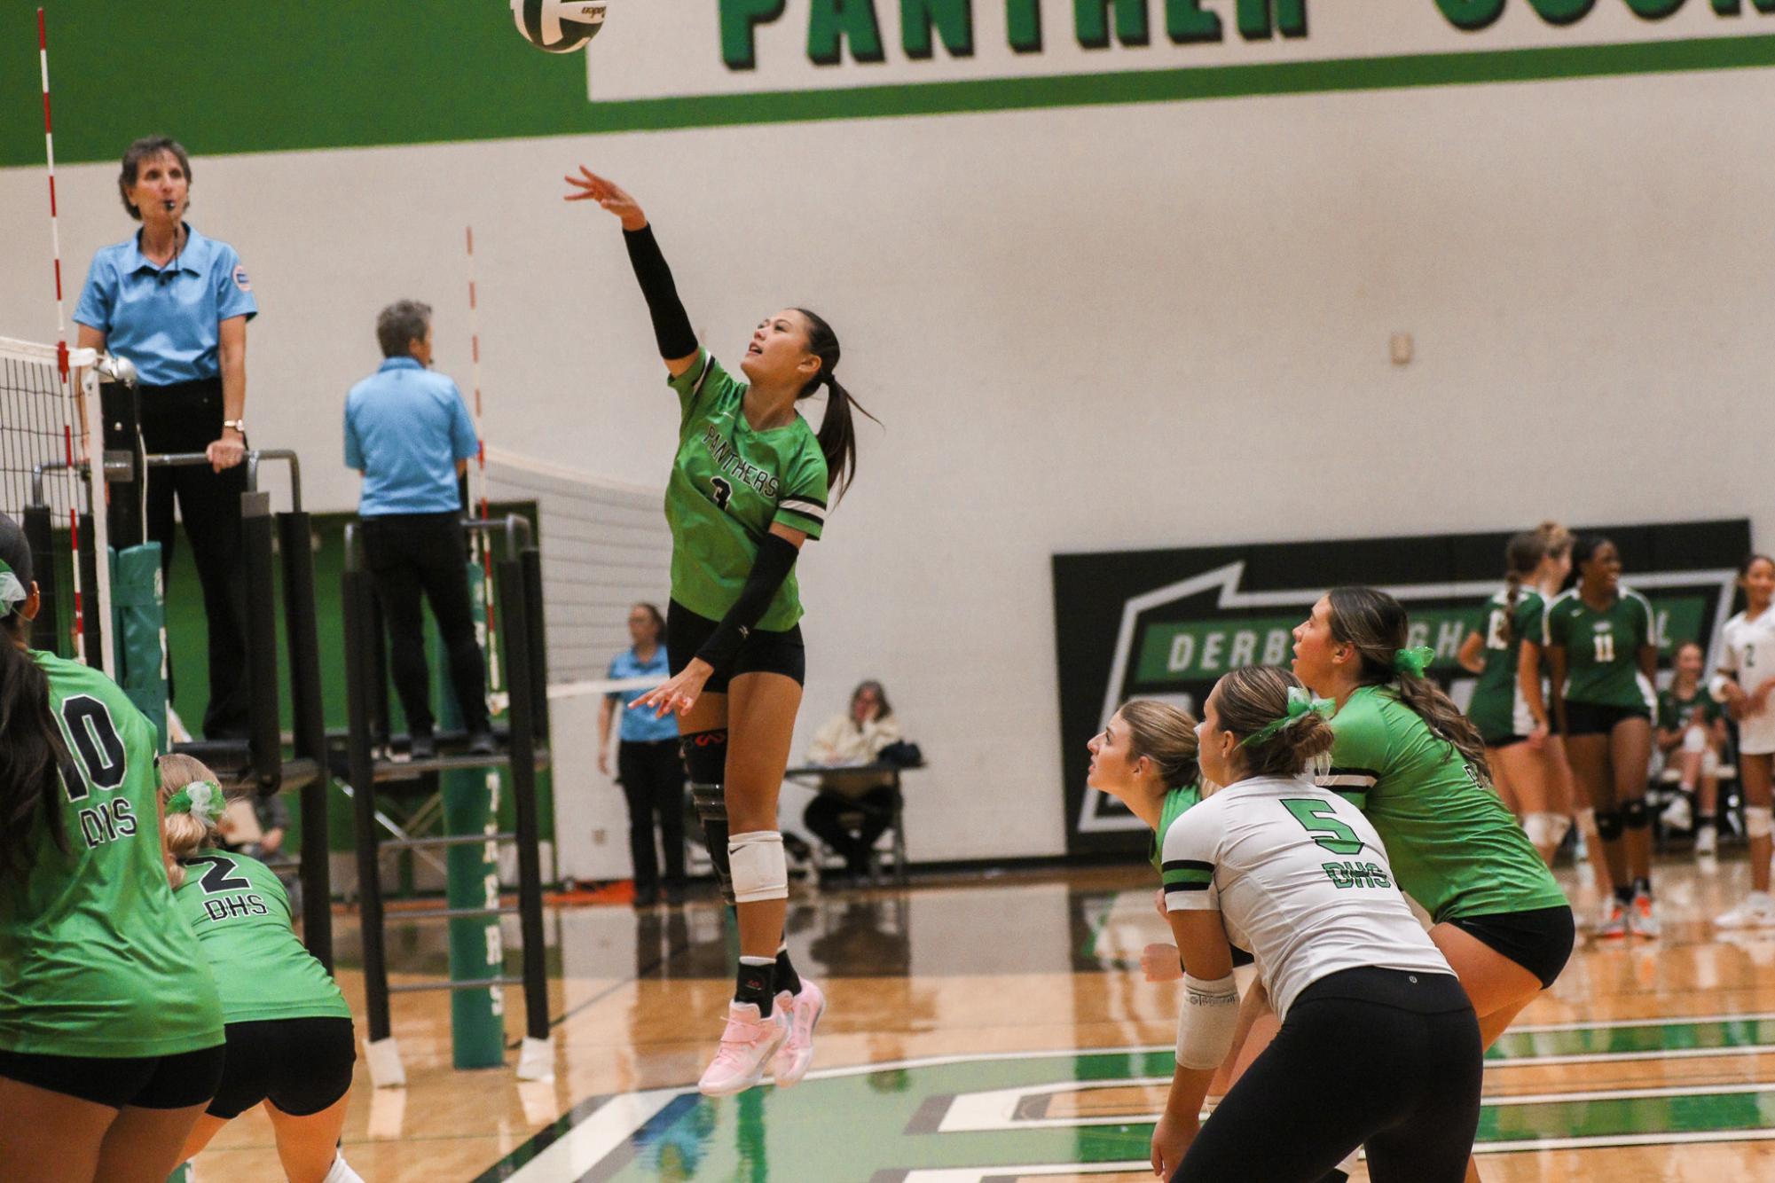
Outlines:
{"type": "Polygon", "coordinates": [[[154,727],[25,647],[39,607],[0,514],[0,1176],[165,1179],[222,1077],[222,1006],[172,912],[154,727]]]}

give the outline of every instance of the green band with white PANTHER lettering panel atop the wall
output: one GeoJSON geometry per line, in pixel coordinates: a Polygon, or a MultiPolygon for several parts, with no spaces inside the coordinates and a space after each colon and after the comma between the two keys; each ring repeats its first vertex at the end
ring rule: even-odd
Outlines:
{"type": "MultiPolygon", "coordinates": [[[[1775,0],[609,0],[564,55],[493,0],[44,7],[66,163],[1775,66],[1775,0]]],[[[41,167],[0,12],[0,167],[41,167]]]]}

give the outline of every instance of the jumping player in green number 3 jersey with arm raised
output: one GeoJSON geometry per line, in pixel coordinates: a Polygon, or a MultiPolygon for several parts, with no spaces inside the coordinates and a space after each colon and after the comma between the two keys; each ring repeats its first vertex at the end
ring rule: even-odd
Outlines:
{"type": "Polygon", "coordinates": [[[738,983],[721,1050],[698,1087],[712,1096],[740,1093],[763,1078],[767,1064],[777,1085],[792,1085],[813,1059],[825,997],[795,974],[783,944],[788,864],[777,791],[806,678],[795,559],[802,543],[820,537],[827,502],[856,466],[852,399],[832,372],[838,335],[806,309],[772,312],[746,348],[744,381],[735,378],[698,344],[635,199],[586,168],[566,183],[566,200],[595,200],[621,220],[678,396],[678,452],[666,491],[673,676],[630,706],[680,715],[690,793],[715,874],[738,913],[738,983]],[[816,433],[795,404],[822,388],[816,433]]]}

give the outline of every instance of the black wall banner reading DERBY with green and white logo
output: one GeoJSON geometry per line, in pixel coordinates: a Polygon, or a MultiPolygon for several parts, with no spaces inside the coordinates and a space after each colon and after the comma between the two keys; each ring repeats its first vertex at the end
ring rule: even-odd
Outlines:
{"type": "MultiPolygon", "coordinates": [[[[1715,667],[1732,610],[1750,521],[1631,523],[1585,529],[1621,548],[1622,584],[1653,605],[1660,663],[1699,640],[1715,667]]],[[[1200,711],[1221,674],[1294,660],[1296,624],[1329,587],[1369,584],[1411,615],[1408,644],[1436,651],[1431,678],[1466,704],[1473,674],[1456,654],[1486,633],[1487,599],[1503,587],[1509,534],[1315,539],[1054,555],[1060,757],[1072,853],[1145,851],[1148,828],[1085,784],[1085,745],[1129,699],[1200,711]]]]}

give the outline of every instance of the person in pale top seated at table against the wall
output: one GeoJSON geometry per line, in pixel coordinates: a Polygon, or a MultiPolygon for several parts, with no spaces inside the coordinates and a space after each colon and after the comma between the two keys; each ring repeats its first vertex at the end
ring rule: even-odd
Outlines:
{"type": "Polygon", "coordinates": [[[808,803],[802,823],[843,855],[852,878],[868,876],[870,850],[900,809],[895,775],[864,772],[861,766],[875,763],[880,750],[898,740],[900,720],[888,702],[888,692],[879,681],[868,679],[850,693],[850,709],[827,720],[808,747],[808,763],[832,772],[820,777],[818,796],[808,803]],[[841,772],[847,766],[857,772],[841,772]]]}

